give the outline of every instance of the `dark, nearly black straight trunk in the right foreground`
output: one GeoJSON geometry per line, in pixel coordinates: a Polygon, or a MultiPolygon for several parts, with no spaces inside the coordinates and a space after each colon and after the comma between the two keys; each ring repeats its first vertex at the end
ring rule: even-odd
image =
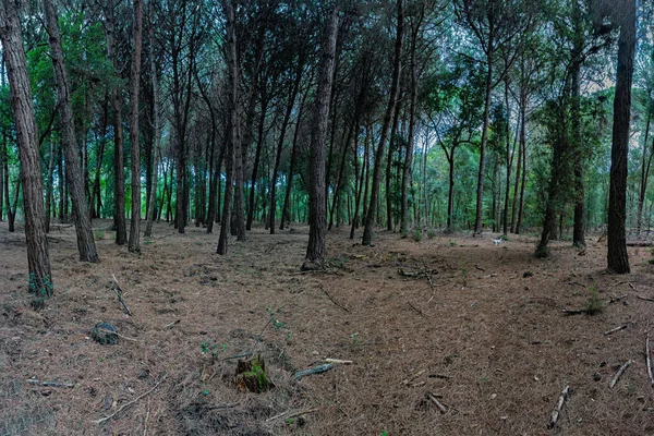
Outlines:
{"type": "Polygon", "coordinates": [[[618,40],[618,73],[614,101],[613,146],[610,153],[610,189],[608,197],[608,269],[630,272],[625,229],[627,213],[627,158],[631,116],[631,83],[635,51],[635,0],[627,0],[620,10],[618,40]]]}

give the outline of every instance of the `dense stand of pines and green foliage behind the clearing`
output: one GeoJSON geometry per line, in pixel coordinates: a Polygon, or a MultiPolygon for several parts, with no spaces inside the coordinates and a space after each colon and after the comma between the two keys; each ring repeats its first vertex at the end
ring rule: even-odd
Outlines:
{"type": "MultiPolygon", "coordinates": [[[[625,227],[651,229],[652,1],[2,0],[1,9],[0,219],[13,231],[25,218],[28,245],[26,207],[38,202],[46,231],[74,221],[89,262],[98,258],[90,220],[111,217],[130,251],[166,220],[180,233],[220,231],[222,254],[229,232],[243,240],[253,226],[275,233],[310,222],[315,262],[335,226],[364,244],[378,227],[542,230],[541,256],[550,239],[582,246],[586,231],[607,225],[610,253],[611,210],[618,244],[625,227]],[[29,174],[19,153],[28,111],[15,112],[10,90],[19,46],[36,120],[29,174]],[[21,175],[40,177],[41,195],[26,195],[21,175]]],[[[614,270],[629,270],[622,257],[614,270]]],[[[31,287],[51,291],[37,263],[31,287]]]]}

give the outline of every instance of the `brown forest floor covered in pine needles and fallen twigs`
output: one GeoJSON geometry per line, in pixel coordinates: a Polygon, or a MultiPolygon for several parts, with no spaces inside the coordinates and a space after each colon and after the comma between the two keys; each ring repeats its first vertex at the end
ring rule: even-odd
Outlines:
{"type": "Polygon", "coordinates": [[[255,229],[219,256],[217,235],[166,223],[129,254],[110,225],[95,221],[95,265],[77,261],[71,227],[51,231],[56,293],[36,313],[24,234],[0,223],[0,435],[654,434],[654,302],[639,299],[654,296],[650,249],[630,247],[632,274],[615,276],[596,237],[585,255],[557,242],[536,259],[533,235],[379,232],[366,247],[341,228],[328,234],[329,269],[301,272],[306,227],[255,229]],[[602,313],[564,314],[593,290],[602,313]],[[118,344],[89,339],[100,322],[118,344]],[[264,393],[240,391],[237,360],[225,360],[253,347],[276,385],[264,393]],[[293,378],[325,359],[353,363],[293,378]]]}

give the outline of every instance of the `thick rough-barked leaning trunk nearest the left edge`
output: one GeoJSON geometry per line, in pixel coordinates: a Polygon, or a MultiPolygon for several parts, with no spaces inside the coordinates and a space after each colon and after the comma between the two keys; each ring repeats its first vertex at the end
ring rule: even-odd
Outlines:
{"type": "Polygon", "coordinates": [[[44,220],[43,182],[34,104],[21,23],[14,4],[11,0],[0,1],[0,39],[12,95],[11,104],[21,159],[29,291],[35,294],[33,306],[38,308],[43,307],[45,299],[52,295],[53,281],[44,220]]]}

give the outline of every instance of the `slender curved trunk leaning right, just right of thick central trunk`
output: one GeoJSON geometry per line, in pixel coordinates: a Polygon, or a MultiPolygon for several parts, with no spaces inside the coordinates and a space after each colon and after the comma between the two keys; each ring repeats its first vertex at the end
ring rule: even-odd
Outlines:
{"type": "Polygon", "coordinates": [[[388,107],[384,114],[384,124],[382,125],[382,135],[379,138],[379,146],[377,147],[377,155],[375,156],[375,168],[373,170],[373,187],[371,191],[371,202],[365,217],[365,229],[363,230],[363,245],[371,245],[373,242],[373,223],[375,221],[375,215],[377,215],[377,203],[379,198],[379,179],[382,175],[382,165],[384,162],[384,148],[386,146],[386,140],[388,136],[388,130],[390,128],[390,121],[395,113],[398,93],[400,89],[400,70],[401,70],[401,58],[402,58],[402,35],[404,29],[404,7],[403,0],[397,1],[398,9],[398,23],[397,23],[397,35],[395,44],[395,58],[392,68],[392,82],[390,85],[390,96],[388,99],[388,107]]]}

